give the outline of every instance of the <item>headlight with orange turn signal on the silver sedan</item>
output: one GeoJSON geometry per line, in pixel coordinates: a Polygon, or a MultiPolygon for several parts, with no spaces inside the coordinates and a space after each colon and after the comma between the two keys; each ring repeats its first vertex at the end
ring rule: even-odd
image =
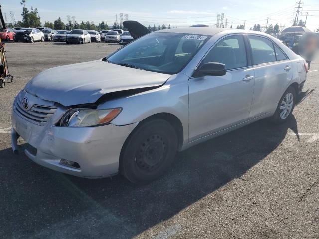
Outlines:
{"type": "Polygon", "coordinates": [[[97,109],[72,109],[62,117],[62,127],[91,127],[105,125],[111,122],[121,112],[122,108],[97,110],[97,109]]]}

